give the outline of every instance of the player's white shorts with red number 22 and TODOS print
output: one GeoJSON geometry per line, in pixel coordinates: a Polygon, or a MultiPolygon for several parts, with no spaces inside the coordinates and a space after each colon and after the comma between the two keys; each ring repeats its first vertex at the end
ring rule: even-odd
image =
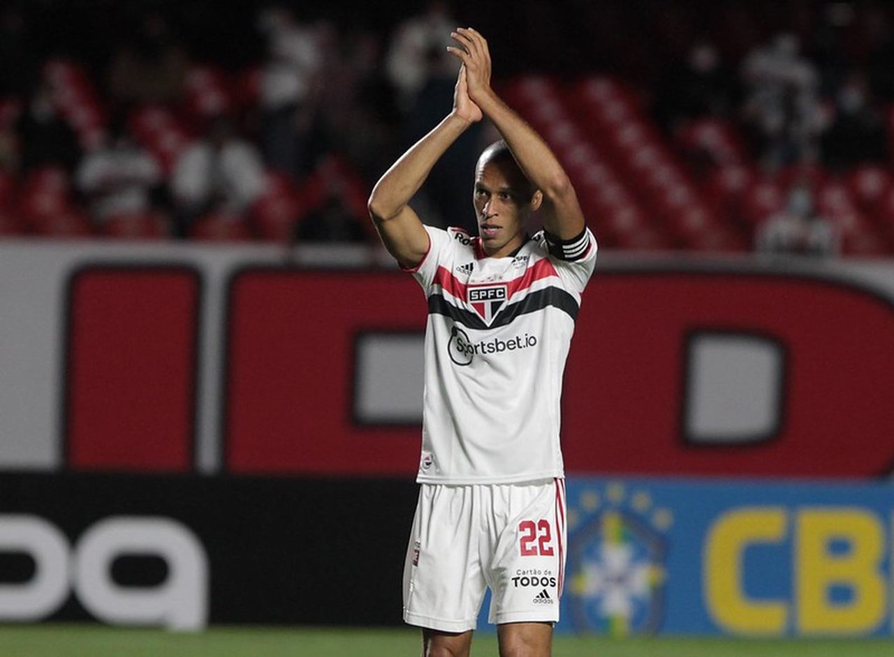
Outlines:
{"type": "Polygon", "coordinates": [[[422,484],[403,574],[410,625],[475,629],[491,588],[491,623],[559,620],[565,482],[422,484]]]}

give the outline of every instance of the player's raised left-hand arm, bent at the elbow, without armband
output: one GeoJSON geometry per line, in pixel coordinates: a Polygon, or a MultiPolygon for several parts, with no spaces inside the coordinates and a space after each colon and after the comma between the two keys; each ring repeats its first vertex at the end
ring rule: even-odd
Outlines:
{"type": "Polygon", "coordinates": [[[462,67],[450,114],[401,155],[375,184],[369,196],[369,215],[388,253],[402,267],[416,267],[428,251],[428,234],[416,212],[409,207],[409,199],[422,187],[434,163],[481,118],[481,110],[468,98],[466,71],[462,67]]]}

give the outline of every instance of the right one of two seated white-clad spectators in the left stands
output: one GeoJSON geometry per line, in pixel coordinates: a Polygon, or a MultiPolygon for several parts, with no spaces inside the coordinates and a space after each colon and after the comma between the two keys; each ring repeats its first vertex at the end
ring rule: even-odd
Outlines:
{"type": "Polygon", "coordinates": [[[257,148],[235,134],[232,119],[220,115],[178,158],[171,187],[175,234],[185,237],[195,220],[212,212],[241,220],[265,191],[264,165],[257,148]]]}

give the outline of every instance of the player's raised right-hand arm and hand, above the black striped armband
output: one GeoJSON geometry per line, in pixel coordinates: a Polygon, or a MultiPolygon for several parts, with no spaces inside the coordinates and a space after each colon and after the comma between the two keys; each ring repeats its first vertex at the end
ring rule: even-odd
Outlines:
{"type": "Polygon", "coordinates": [[[544,229],[560,240],[579,237],[585,228],[584,214],[568,174],[536,130],[491,88],[491,55],[485,37],[472,28],[458,28],[451,37],[457,46],[447,49],[466,69],[469,98],[500,130],[527,179],[544,195],[544,229]]]}

